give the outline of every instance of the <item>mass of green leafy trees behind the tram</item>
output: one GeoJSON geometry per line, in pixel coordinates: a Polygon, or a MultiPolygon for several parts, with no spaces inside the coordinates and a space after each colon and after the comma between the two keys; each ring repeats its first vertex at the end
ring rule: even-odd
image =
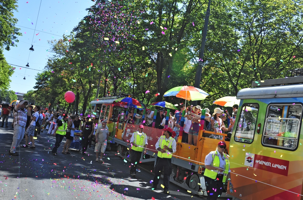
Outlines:
{"type": "MultiPolygon", "coordinates": [[[[62,40],[49,41],[54,53],[37,75],[41,103],[84,113],[90,100],[132,94],[146,104],[165,91],[193,85],[208,1],[95,0],[62,40]],[[158,95],[159,94],[159,95],[158,95]],[[68,109],[69,109],[68,107],[68,109]]],[[[282,78],[302,62],[302,0],[232,0],[211,2],[200,88],[210,95],[203,107],[235,96],[252,81],[282,78]]]]}

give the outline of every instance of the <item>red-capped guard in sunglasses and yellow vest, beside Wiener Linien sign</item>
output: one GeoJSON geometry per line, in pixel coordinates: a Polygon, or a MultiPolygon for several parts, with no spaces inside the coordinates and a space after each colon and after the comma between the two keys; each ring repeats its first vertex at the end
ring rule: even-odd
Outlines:
{"type": "Polygon", "coordinates": [[[207,200],[217,200],[221,196],[226,179],[229,181],[229,189],[233,190],[228,155],[223,153],[225,149],[226,143],[220,141],[216,150],[205,157],[204,180],[207,200]]]}

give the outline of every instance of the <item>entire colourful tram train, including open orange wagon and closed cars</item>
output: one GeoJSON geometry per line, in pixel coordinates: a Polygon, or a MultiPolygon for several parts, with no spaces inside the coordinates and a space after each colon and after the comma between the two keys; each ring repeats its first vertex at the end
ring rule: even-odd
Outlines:
{"type": "MultiPolygon", "coordinates": [[[[226,152],[229,154],[234,192],[225,184],[222,196],[233,200],[250,199],[303,199],[303,77],[255,81],[252,88],[238,92],[241,99],[235,126],[226,152]],[[228,191],[226,193],[226,191],[228,191]],[[232,196],[231,196],[232,195],[232,196]]],[[[109,143],[117,145],[117,155],[130,160],[129,140],[138,125],[124,124],[127,106],[114,102],[119,97],[99,98],[92,101],[95,122],[113,118],[113,131],[109,143]],[[122,114],[123,113],[123,114],[122,114]]],[[[204,181],[204,159],[213,151],[219,140],[204,137],[214,132],[203,130],[202,111],[197,146],[177,141],[172,157],[170,181],[191,191],[207,195],[204,181]]],[[[183,113],[184,116],[184,113],[183,113]]],[[[184,120],[184,118],[183,118],[184,120]]],[[[182,121],[182,119],[181,119],[182,121]]],[[[182,127],[182,124],[181,124],[182,127]]],[[[161,129],[145,126],[148,136],[148,154],[140,162],[155,162],[155,143],[161,129]]],[[[226,134],[217,133],[223,136],[226,134]]]]}

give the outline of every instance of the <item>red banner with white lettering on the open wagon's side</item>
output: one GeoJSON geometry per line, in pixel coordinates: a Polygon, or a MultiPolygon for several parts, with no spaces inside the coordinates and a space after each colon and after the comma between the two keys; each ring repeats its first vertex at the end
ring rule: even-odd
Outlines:
{"type": "MultiPolygon", "coordinates": [[[[139,128],[139,125],[135,124],[127,124],[126,128],[124,129],[122,140],[124,142],[130,143],[131,136],[134,132],[136,132],[139,128]]],[[[158,150],[156,150],[156,143],[158,141],[158,138],[163,135],[162,129],[155,129],[152,127],[144,126],[143,133],[147,136],[147,148],[152,149],[153,152],[158,153],[158,150]]]]}

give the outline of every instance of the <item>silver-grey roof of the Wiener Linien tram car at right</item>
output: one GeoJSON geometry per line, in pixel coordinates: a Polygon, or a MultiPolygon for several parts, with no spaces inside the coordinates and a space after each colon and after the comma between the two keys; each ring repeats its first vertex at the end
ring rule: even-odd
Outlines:
{"type": "Polygon", "coordinates": [[[244,88],[237,94],[237,99],[285,97],[303,97],[303,84],[244,88]]]}

